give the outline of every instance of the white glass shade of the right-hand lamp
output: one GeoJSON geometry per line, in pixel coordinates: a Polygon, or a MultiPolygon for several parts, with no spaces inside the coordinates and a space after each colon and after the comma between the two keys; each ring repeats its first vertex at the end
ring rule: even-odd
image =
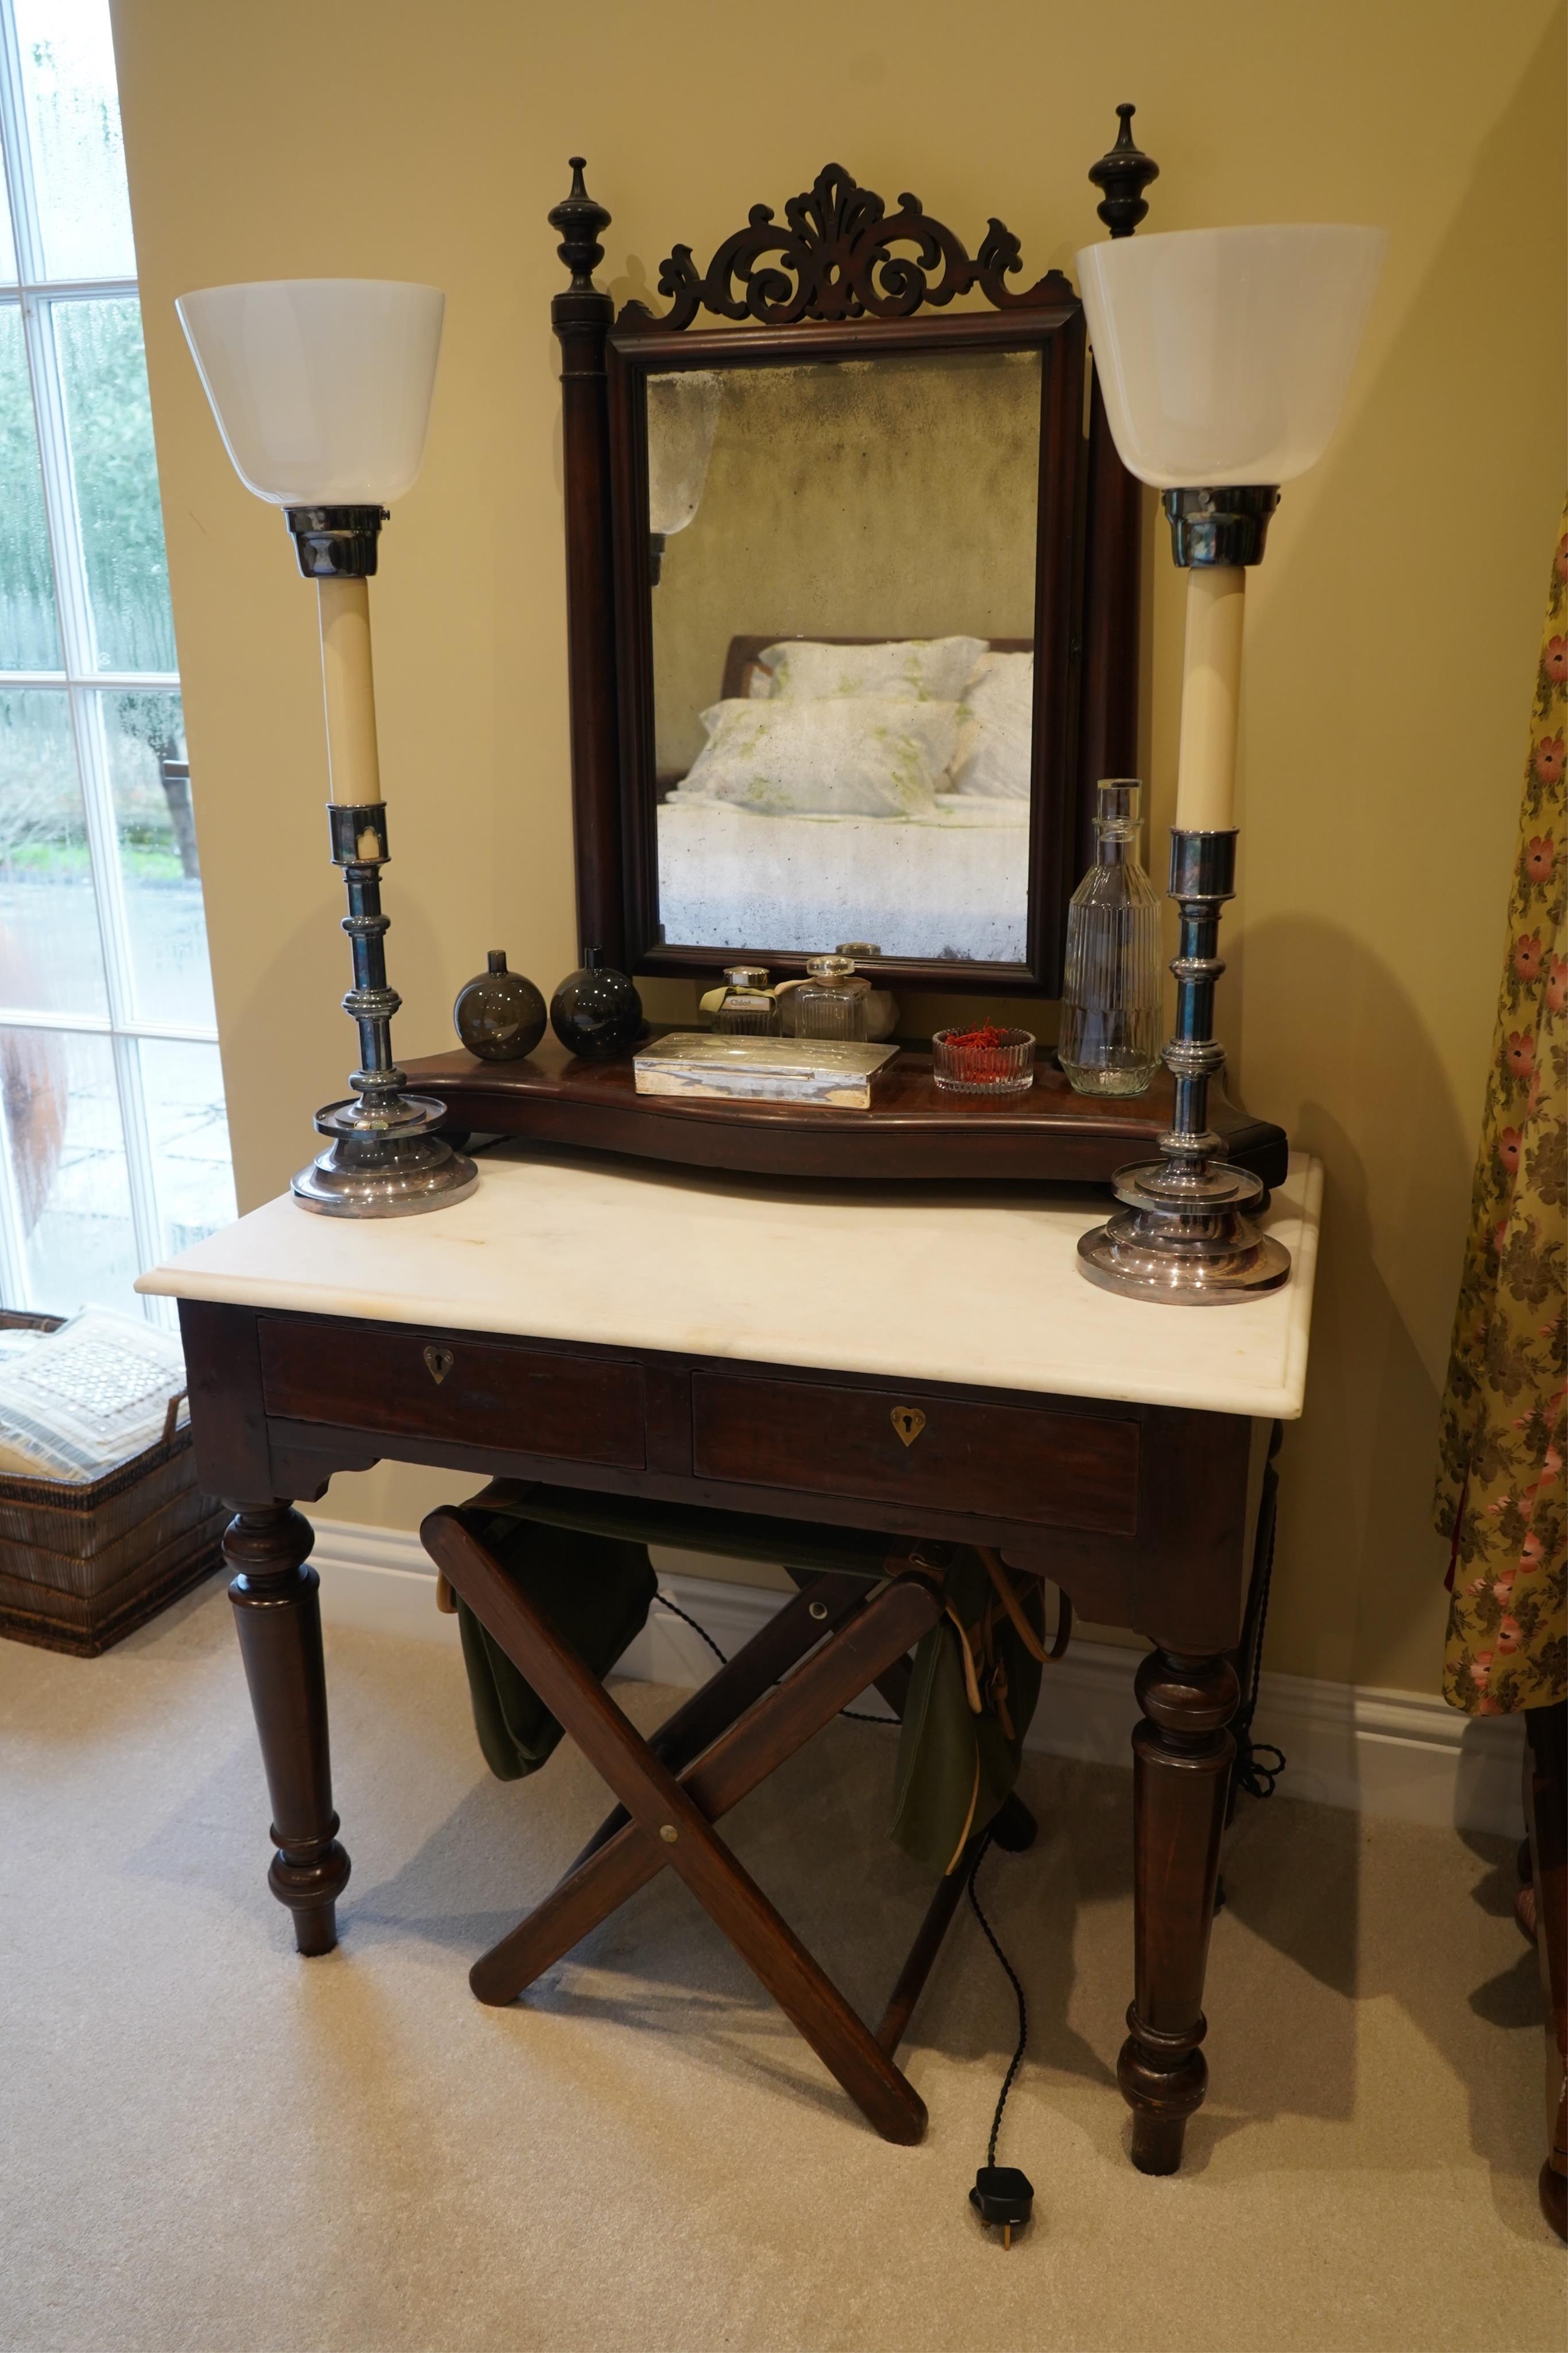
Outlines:
{"type": "Polygon", "coordinates": [[[1328,447],[1382,228],[1185,228],[1079,256],[1121,464],[1157,489],[1291,482],[1328,447]]]}

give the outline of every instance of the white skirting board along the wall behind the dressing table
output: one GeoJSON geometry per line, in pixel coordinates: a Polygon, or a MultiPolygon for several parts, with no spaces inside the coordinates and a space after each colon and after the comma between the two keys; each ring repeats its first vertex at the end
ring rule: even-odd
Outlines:
{"type": "MultiPolygon", "coordinates": [[[[369,1633],[402,1633],[456,1647],[456,1619],[435,1607],[435,1572],[418,1537],[395,1527],[315,1522],[322,1577],[322,1619],[369,1633]]],[[[703,1577],[698,1553],[654,1551],[661,1591],[698,1619],[726,1657],[773,1614],[783,1595],[703,1577]]],[[[618,1673],[646,1682],[698,1685],[715,1668],[712,1652],[668,1609],[621,1659],[618,1673]]],[[[1110,1642],[1072,1642],[1060,1666],[1046,1668],[1030,1748],[1131,1765],[1135,1652],[1110,1642]]],[[[884,1713],[875,1692],[856,1701],[884,1713]]],[[[1458,1831],[1521,1831],[1521,1725],[1516,1718],[1469,1718],[1436,1694],[1389,1692],[1312,1675],[1262,1678],[1260,1741],[1288,1758],[1281,1795],[1356,1807],[1458,1831]]]]}

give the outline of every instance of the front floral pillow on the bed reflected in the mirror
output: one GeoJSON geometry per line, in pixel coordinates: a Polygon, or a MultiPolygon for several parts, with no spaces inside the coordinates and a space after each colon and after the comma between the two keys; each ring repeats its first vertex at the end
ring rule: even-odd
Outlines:
{"type": "Polygon", "coordinates": [[[703,711],[708,744],[672,800],[762,816],[931,816],[959,739],[957,704],[860,694],[703,711]]]}

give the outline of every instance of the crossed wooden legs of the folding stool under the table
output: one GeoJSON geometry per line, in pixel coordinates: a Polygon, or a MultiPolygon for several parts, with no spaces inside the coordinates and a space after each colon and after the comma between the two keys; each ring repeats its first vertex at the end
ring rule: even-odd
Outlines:
{"type": "MultiPolygon", "coordinates": [[[[559,1887],[475,1962],[470,1984],[480,2000],[515,2000],[668,1866],[867,2122],[889,2141],[919,2141],[926,2104],[893,2064],[893,2049],[940,1946],[936,1920],[945,1925],[954,1908],[947,1880],[872,2033],[736,1861],[715,1821],[919,1642],[940,1617],[938,1581],[917,1565],[877,1588],[832,1572],[813,1579],[644,1741],[458,1511],[430,1513],[421,1537],[454,1593],[621,1800],[559,1887]],[[806,1652],[816,1654],[788,1673],[806,1652]]],[[[961,1892],[964,1866],[950,1878],[961,1892]]]]}

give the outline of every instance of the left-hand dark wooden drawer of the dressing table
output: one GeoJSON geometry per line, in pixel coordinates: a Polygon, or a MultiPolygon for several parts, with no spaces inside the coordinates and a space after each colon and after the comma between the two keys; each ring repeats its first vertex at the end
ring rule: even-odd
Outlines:
{"type": "Polygon", "coordinates": [[[642,1367],[552,1348],[261,1318],[268,1414],[386,1438],[451,1438],[562,1461],[644,1466],[642,1367]]]}

